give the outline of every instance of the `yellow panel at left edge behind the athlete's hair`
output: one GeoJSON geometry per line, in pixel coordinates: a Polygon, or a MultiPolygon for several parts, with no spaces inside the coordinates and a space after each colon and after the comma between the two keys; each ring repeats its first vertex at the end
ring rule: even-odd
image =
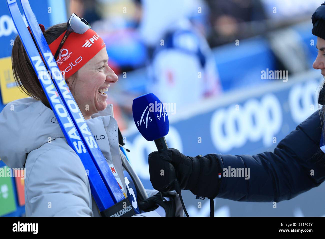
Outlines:
{"type": "Polygon", "coordinates": [[[3,104],[27,97],[16,85],[11,68],[11,57],[0,58],[0,90],[3,104]]]}

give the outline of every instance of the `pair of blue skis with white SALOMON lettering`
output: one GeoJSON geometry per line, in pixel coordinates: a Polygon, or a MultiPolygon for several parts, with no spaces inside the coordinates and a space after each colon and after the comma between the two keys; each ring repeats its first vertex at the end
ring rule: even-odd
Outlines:
{"type": "Polygon", "coordinates": [[[69,91],[28,0],[20,0],[20,2],[39,51],[22,19],[16,0],[7,0],[11,17],[68,144],[80,157],[85,169],[89,170],[91,192],[101,215],[134,215],[130,202],[122,193],[69,91]]]}

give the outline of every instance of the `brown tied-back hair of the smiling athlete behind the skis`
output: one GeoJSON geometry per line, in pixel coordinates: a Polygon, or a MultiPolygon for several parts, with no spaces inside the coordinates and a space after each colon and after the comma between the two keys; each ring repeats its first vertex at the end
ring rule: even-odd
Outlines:
{"type": "MultiPolygon", "coordinates": [[[[60,23],[49,27],[43,32],[47,44],[49,45],[54,42],[66,30],[67,23],[60,23]]],[[[11,63],[14,79],[19,89],[26,95],[36,100],[41,100],[43,104],[51,109],[19,35],[15,38],[14,46],[12,47],[11,63]]],[[[75,79],[76,75],[77,72],[71,76],[72,79],[75,79]]]]}

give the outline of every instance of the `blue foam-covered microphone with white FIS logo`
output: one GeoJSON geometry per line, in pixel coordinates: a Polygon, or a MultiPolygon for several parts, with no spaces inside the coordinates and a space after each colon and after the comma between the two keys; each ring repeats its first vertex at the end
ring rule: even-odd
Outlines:
{"type": "Polygon", "coordinates": [[[132,112],[141,135],[148,141],[155,141],[159,153],[167,150],[164,136],[169,130],[168,116],[158,97],[152,93],[137,97],[133,100],[132,112]]]}

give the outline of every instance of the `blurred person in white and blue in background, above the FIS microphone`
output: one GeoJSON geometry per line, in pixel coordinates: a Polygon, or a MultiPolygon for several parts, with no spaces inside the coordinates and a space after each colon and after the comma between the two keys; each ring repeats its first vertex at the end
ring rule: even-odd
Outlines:
{"type": "Polygon", "coordinates": [[[178,109],[221,92],[211,49],[187,19],[172,24],[162,39],[149,67],[148,92],[178,109]]]}

